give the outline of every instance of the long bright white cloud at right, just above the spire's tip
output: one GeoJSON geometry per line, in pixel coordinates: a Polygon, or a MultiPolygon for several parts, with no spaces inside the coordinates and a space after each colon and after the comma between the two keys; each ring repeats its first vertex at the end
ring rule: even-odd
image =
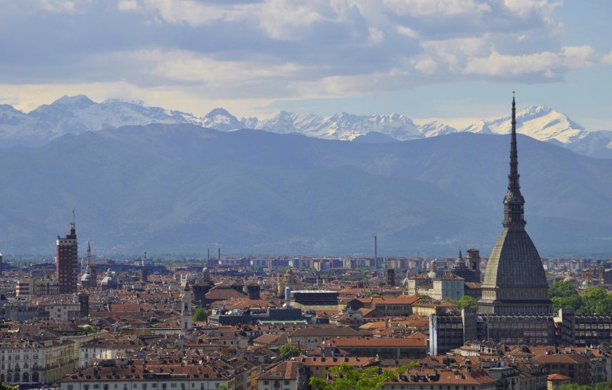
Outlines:
{"type": "Polygon", "coordinates": [[[544,51],[521,56],[508,56],[493,51],[488,57],[469,60],[463,72],[502,78],[533,73],[556,77],[555,72],[590,66],[593,54],[594,50],[590,46],[566,46],[559,53],[544,51]]]}

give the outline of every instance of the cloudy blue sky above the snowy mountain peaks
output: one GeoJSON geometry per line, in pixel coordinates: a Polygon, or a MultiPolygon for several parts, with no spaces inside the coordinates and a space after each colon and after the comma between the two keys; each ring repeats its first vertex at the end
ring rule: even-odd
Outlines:
{"type": "Polygon", "coordinates": [[[475,122],[549,105],[612,130],[612,1],[0,0],[0,104],[475,122]]]}

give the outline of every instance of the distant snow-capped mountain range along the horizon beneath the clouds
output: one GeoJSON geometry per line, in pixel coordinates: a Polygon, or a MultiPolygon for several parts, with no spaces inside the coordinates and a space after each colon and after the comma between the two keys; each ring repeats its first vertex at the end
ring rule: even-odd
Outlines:
{"type": "MultiPolygon", "coordinates": [[[[510,117],[480,121],[464,129],[442,122],[415,124],[400,114],[353,115],[346,112],[321,116],[281,111],[267,118],[238,119],[223,108],[204,117],[186,112],[148,107],[142,103],[106,100],[96,103],[87,96],[63,96],[49,105],[25,113],[0,105],[0,147],[45,145],[65,134],[117,128],[127,125],[197,124],[208,129],[235,131],[257,129],[277,134],[302,134],[341,141],[386,143],[470,132],[507,134],[510,117]]],[[[539,141],[555,143],[591,157],[612,157],[612,131],[587,131],[567,115],[545,105],[517,112],[517,129],[539,141]]]]}

